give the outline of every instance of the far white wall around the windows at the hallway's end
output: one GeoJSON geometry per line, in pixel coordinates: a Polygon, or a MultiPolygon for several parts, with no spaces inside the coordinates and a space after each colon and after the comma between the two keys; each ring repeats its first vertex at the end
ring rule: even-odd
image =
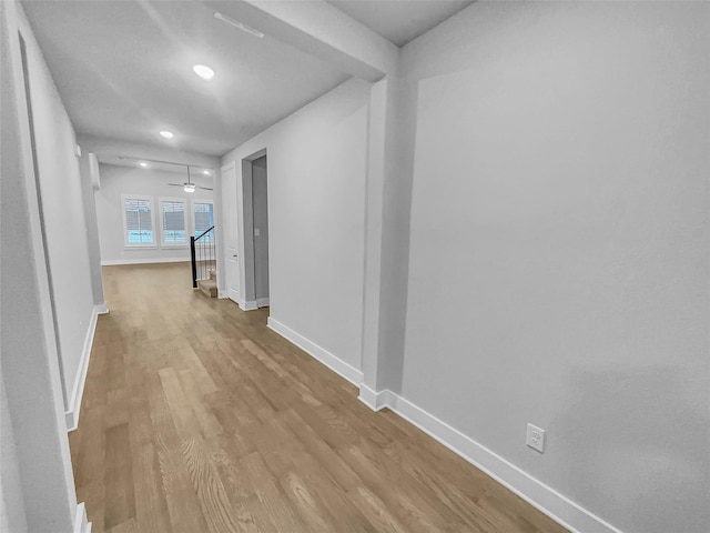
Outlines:
{"type": "MultiPolygon", "coordinates": [[[[101,243],[101,262],[116,263],[150,263],[161,261],[190,261],[189,243],[182,248],[162,247],[160,244],[160,198],[181,198],[186,200],[213,200],[213,191],[202,189],[185,192],[181,187],[170,187],[168,183],[183,183],[186,174],[165,172],[154,169],[118,167],[100,164],[101,189],[95,192],[97,218],[99,221],[99,240],[101,243]],[[150,195],[153,199],[153,231],[156,239],[155,248],[125,247],[123,237],[123,202],[121,194],[150,195]]],[[[192,175],[192,182],[201,187],[213,187],[213,178],[192,175]]],[[[190,219],[190,203],[186,218],[190,219]]],[[[189,225],[191,229],[192,225],[189,225]]]]}

